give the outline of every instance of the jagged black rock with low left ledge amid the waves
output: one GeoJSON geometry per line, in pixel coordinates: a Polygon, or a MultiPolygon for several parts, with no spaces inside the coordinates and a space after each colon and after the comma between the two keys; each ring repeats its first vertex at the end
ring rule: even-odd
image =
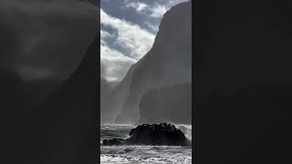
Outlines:
{"type": "Polygon", "coordinates": [[[142,124],[130,130],[130,138],[104,139],[105,146],[112,145],[170,145],[184,146],[187,144],[183,132],[172,124],[142,124]]]}

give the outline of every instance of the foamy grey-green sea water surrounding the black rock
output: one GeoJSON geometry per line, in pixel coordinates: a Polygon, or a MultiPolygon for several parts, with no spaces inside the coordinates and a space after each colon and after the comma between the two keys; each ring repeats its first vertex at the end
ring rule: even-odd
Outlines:
{"type": "MultiPolygon", "coordinates": [[[[175,125],[192,142],[192,125],[175,125]]],[[[105,138],[128,137],[136,126],[103,124],[100,126],[100,143],[105,138]]],[[[192,146],[101,146],[101,163],[192,163],[192,146]]]]}

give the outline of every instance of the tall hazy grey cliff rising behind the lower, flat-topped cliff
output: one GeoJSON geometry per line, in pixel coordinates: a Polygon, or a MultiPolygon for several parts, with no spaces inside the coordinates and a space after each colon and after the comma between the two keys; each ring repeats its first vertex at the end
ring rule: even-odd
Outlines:
{"type": "Polygon", "coordinates": [[[140,118],[141,96],[151,87],[192,81],[192,3],[172,7],[163,15],[151,51],[130,68],[115,89],[120,102],[118,123],[133,123],[140,118]],[[121,88],[121,89],[120,89],[121,88]]]}

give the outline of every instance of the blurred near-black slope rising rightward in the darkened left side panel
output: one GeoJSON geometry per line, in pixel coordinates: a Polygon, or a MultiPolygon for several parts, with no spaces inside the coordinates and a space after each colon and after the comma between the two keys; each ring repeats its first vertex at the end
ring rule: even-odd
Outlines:
{"type": "Polygon", "coordinates": [[[78,69],[30,118],[19,143],[21,163],[97,162],[98,54],[99,36],[78,69]]]}

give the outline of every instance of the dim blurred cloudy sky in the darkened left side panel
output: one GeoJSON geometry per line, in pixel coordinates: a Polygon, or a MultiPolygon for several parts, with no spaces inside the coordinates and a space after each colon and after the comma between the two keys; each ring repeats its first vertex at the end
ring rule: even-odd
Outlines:
{"type": "Polygon", "coordinates": [[[87,1],[1,1],[1,67],[26,79],[67,78],[96,35],[98,15],[87,1]]]}

